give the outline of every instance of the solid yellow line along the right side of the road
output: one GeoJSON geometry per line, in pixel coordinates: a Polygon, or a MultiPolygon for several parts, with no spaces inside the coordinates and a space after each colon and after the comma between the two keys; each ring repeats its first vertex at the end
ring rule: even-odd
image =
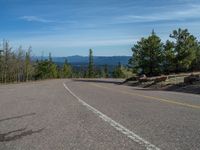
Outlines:
{"type": "Polygon", "coordinates": [[[187,103],[177,102],[176,100],[168,100],[168,99],[164,99],[164,98],[147,96],[147,95],[142,95],[142,94],[138,94],[138,93],[130,93],[130,92],[126,92],[126,91],[113,90],[113,89],[111,89],[109,87],[97,85],[97,84],[94,84],[94,83],[92,83],[92,85],[94,85],[96,87],[104,88],[104,89],[109,89],[109,90],[112,90],[112,91],[115,91],[115,92],[117,91],[117,92],[121,92],[121,93],[124,93],[124,94],[129,94],[129,95],[144,97],[144,98],[147,98],[147,99],[153,99],[153,100],[157,100],[157,101],[161,101],[161,102],[166,102],[166,103],[171,103],[171,104],[175,104],[175,105],[180,105],[180,106],[185,106],[185,107],[200,109],[199,105],[191,105],[191,104],[187,104],[187,103]]]}

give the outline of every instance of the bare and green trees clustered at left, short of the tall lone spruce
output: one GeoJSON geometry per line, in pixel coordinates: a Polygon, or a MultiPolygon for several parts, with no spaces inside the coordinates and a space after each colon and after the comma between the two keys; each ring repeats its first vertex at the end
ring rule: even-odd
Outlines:
{"type": "Polygon", "coordinates": [[[3,47],[0,50],[0,83],[72,77],[72,67],[67,60],[63,67],[59,68],[49,53],[48,60],[33,62],[31,51],[31,47],[25,51],[20,46],[14,53],[9,43],[3,41],[3,47]]]}

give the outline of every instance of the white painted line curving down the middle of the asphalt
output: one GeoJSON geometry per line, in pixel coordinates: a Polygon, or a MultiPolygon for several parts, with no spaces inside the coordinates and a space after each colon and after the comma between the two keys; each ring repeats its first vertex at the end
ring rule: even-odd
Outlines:
{"type": "Polygon", "coordinates": [[[134,142],[137,142],[138,144],[144,146],[147,150],[160,150],[160,148],[156,147],[155,145],[151,144],[150,142],[146,141],[139,135],[135,134],[134,132],[130,131],[129,129],[125,128],[123,125],[117,123],[116,121],[112,120],[110,117],[106,116],[102,112],[98,111],[96,108],[90,106],[86,102],[84,102],[82,99],[80,99],[76,94],[74,94],[65,83],[63,83],[65,89],[72,95],[74,96],[83,106],[85,106],[87,109],[92,111],[94,114],[99,116],[102,120],[105,122],[109,123],[112,127],[114,127],[116,130],[119,132],[123,133],[126,135],[128,138],[133,140],[134,142]]]}

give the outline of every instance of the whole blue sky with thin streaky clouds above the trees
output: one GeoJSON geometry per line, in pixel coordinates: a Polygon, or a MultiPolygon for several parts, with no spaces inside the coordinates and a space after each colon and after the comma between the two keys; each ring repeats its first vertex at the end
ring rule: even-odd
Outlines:
{"type": "Polygon", "coordinates": [[[53,56],[131,55],[152,29],[168,39],[188,28],[200,39],[199,0],[0,0],[0,39],[53,56]]]}

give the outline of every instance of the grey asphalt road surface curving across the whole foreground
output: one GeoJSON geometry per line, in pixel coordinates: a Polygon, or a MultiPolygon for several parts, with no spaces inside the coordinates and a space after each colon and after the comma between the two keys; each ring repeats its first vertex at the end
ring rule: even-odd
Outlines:
{"type": "Polygon", "coordinates": [[[200,96],[114,80],[0,86],[0,150],[198,150],[200,96]]]}

